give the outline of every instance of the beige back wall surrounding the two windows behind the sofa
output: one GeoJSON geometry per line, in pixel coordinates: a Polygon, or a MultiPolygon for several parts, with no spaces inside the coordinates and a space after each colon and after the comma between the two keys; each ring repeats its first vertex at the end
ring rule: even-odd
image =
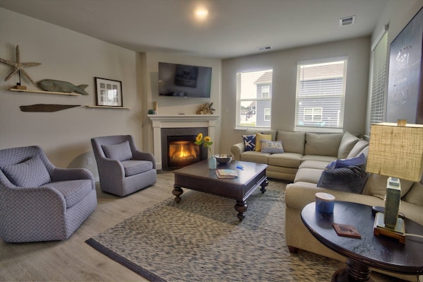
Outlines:
{"type": "Polygon", "coordinates": [[[241,142],[243,131],[236,131],[236,73],[255,69],[273,69],[272,129],[294,130],[297,61],[348,57],[345,93],[344,131],[363,134],[369,80],[370,37],[299,47],[255,56],[226,59],[222,63],[222,136],[221,150],[229,152],[241,142]]]}

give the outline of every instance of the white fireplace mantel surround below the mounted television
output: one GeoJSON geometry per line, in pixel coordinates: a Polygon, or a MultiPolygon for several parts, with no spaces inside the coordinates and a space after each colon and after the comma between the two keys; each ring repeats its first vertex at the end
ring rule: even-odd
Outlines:
{"type": "MultiPolygon", "coordinates": [[[[215,114],[148,114],[153,124],[154,156],[156,157],[156,169],[162,168],[161,155],[161,129],[184,128],[184,127],[207,127],[209,136],[215,140],[216,120],[219,115],[215,114]]],[[[212,145],[214,151],[214,144],[212,145]]]]}

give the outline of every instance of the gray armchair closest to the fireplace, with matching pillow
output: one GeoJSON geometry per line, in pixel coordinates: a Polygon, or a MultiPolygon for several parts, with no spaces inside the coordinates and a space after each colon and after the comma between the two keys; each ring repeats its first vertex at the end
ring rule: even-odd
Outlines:
{"type": "Polygon", "coordinates": [[[103,192],[126,196],[156,183],[154,155],[138,151],[131,135],[95,137],[91,144],[103,192]]]}

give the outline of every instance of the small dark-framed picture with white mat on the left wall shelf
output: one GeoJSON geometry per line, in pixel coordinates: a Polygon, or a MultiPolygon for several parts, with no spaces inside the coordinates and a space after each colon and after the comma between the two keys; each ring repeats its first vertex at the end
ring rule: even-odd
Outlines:
{"type": "Polygon", "coordinates": [[[123,107],[122,81],[96,77],[95,93],[98,106],[123,107]]]}

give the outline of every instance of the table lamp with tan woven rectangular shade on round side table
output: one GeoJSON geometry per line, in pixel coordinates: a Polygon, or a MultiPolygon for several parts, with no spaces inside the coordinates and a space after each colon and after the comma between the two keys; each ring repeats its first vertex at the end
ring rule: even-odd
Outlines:
{"type": "Polygon", "coordinates": [[[405,243],[405,225],[398,218],[400,179],[419,182],[423,172],[423,124],[372,124],[366,171],[388,176],[385,212],[376,213],[374,234],[405,243]]]}

